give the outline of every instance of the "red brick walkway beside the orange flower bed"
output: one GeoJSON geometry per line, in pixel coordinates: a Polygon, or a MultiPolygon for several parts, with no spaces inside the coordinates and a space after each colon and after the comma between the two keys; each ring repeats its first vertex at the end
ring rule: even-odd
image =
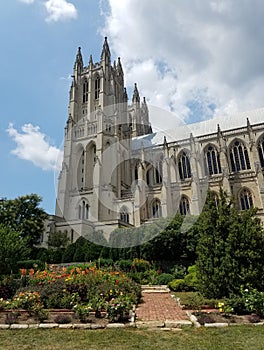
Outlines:
{"type": "Polygon", "coordinates": [[[189,320],[186,312],[170,293],[142,293],[143,303],[136,309],[136,319],[141,321],[189,320]]]}

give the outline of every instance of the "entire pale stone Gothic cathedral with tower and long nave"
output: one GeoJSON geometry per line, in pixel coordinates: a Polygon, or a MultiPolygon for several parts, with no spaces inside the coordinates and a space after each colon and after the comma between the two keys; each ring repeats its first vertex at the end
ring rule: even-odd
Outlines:
{"type": "Polygon", "coordinates": [[[85,65],[79,48],[56,213],[46,233],[67,232],[74,242],[176,212],[199,215],[207,190],[217,199],[220,188],[264,219],[263,120],[259,109],[153,132],[136,84],[129,102],[121,60],[111,62],[107,38],[99,62],[90,56],[85,65]]]}

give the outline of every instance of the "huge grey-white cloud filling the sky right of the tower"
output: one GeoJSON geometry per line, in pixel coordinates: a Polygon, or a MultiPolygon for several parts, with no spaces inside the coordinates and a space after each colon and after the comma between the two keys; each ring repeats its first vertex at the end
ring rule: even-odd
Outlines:
{"type": "Polygon", "coordinates": [[[104,16],[127,86],[149,103],[188,122],[263,106],[261,0],[108,0],[104,16]]]}

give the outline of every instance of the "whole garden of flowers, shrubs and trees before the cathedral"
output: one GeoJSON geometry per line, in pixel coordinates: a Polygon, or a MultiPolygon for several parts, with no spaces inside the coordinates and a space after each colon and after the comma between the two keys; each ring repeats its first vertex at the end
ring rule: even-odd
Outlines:
{"type": "MultiPolygon", "coordinates": [[[[70,243],[64,232],[38,246],[46,218],[39,202],[0,202],[1,322],[127,322],[144,284],[168,285],[200,324],[263,320],[263,227],[256,209],[240,212],[222,190],[217,201],[208,192],[199,218],[176,214],[153,239],[128,248],[83,237],[70,243]]],[[[153,232],[159,220],[117,229],[110,243],[153,232]]]]}

